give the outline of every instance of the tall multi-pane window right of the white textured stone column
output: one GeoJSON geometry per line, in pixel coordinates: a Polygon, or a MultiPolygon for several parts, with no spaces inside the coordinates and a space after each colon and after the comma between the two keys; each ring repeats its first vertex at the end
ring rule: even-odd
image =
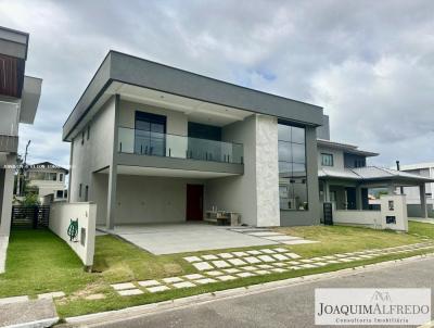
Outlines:
{"type": "Polygon", "coordinates": [[[305,135],[302,127],[279,123],[280,210],[308,209],[305,135]]]}

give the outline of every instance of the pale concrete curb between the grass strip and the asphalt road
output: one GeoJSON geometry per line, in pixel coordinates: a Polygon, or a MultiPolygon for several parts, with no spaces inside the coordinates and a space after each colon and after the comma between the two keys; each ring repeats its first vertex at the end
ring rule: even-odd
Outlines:
{"type": "Polygon", "coordinates": [[[371,272],[371,270],[381,269],[381,268],[385,268],[385,267],[399,266],[399,265],[411,263],[411,262],[429,260],[431,257],[434,257],[434,253],[416,255],[416,256],[411,256],[411,257],[406,257],[406,258],[400,258],[400,260],[392,260],[392,261],[380,262],[380,263],[374,263],[374,264],[368,264],[365,266],[356,266],[356,267],[352,267],[352,268],[341,269],[337,272],[315,274],[315,275],[309,275],[309,276],[289,278],[289,279],[284,279],[284,280],[269,281],[269,282],[264,282],[264,283],[258,283],[258,285],[251,285],[251,286],[246,286],[246,287],[238,287],[238,288],[233,288],[233,289],[226,289],[226,290],[221,290],[221,291],[208,292],[208,293],[203,293],[203,294],[197,294],[197,295],[192,295],[192,297],[187,297],[187,298],[180,298],[180,299],[175,299],[175,300],[169,300],[169,301],[163,301],[163,302],[151,303],[151,304],[145,304],[145,305],[137,305],[137,306],[126,307],[126,308],[122,308],[122,310],[68,317],[68,318],[65,318],[66,325],[63,325],[63,326],[75,327],[77,325],[85,325],[85,324],[86,325],[101,324],[102,321],[110,321],[111,324],[113,324],[113,323],[123,320],[125,318],[131,319],[131,318],[140,317],[143,315],[162,313],[162,312],[166,312],[166,311],[170,311],[170,310],[175,310],[175,308],[183,308],[183,307],[187,307],[187,306],[190,306],[193,304],[197,305],[199,303],[204,304],[204,303],[209,303],[209,302],[214,302],[214,301],[218,301],[218,300],[222,300],[222,299],[239,298],[239,297],[244,297],[247,294],[256,294],[256,293],[261,293],[261,292],[266,292],[266,291],[272,291],[272,290],[281,289],[281,288],[289,287],[289,286],[303,285],[303,283],[308,283],[308,282],[314,282],[314,281],[322,281],[322,280],[332,279],[332,278],[336,278],[336,277],[353,276],[353,275],[363,273],[363,272],[371,272]]]}

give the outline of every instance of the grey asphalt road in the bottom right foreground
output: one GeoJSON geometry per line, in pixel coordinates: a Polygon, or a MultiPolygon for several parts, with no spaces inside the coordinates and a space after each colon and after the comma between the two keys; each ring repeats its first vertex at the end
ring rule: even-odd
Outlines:
{"type": "MultiPolygon", "coordinates": [[[[127,318],[123,321],[99,324],[94,327],[315,327],[314,291],[320,287],[424,287],[434,290],[434,258],[420,260],[371,272],[361,272],[346,277],[289,286],[251,295],[194,304],[184,308],[148,314],[138,318],[127,318]]],[[[434,300],[432,300],[432,303],[434,304],[434,300]]]]}

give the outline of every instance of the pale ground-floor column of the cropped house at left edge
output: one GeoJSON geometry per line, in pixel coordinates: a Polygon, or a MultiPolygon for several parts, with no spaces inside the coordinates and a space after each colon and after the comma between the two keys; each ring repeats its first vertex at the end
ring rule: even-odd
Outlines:
{"type": "MultiPolygon", "coordinates": [[[[8,155],[7,165],[14,165],[16,162],[15,154],[8,155]]],[[[11,232],[11,215],[12,215],[12,200],[13,200],[13,184],[14,182],[14,169],[5,168],[4,169],[4,184],[0,186],[3,188],[3,199],[0,200],[2,202],[1,206],[1,225],[0,225],[0,235],[9,236],[11,232]]]]}

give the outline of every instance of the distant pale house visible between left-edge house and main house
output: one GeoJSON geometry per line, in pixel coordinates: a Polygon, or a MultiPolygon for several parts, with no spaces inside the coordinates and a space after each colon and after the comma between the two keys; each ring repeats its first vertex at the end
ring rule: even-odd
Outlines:
{"type": "Polygon", "coordinates": [[[65,184],[67,174],[66,168],[50,162],[33,164],[26,169],[27,186],[37,188],[40,198],[52,194],[54,201],[65,200],[67,197],[65,184]]]}

